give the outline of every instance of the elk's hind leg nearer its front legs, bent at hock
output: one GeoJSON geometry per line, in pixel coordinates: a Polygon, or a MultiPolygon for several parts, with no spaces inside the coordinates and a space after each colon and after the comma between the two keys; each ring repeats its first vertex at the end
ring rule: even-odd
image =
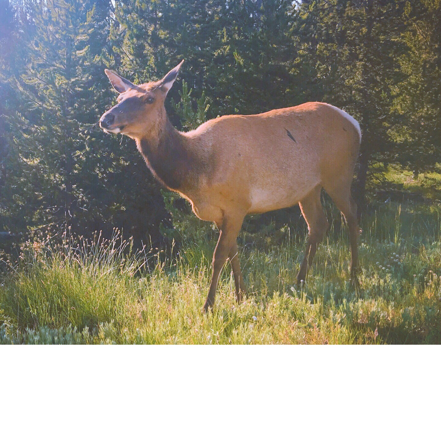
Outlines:
{"type": "Polygon", "coordinates": [[[306,244],[305,257],[297,276],[297,284],[300,284],[302,280],[306,280],[306,274],[314,259],[317,246],[325,237],[329,227],[323,207],[321,206],[320,192],[321,185],[318,185],[299,202],[303,217],[306,224],[308,224],[308,242],[306,244]]]}

